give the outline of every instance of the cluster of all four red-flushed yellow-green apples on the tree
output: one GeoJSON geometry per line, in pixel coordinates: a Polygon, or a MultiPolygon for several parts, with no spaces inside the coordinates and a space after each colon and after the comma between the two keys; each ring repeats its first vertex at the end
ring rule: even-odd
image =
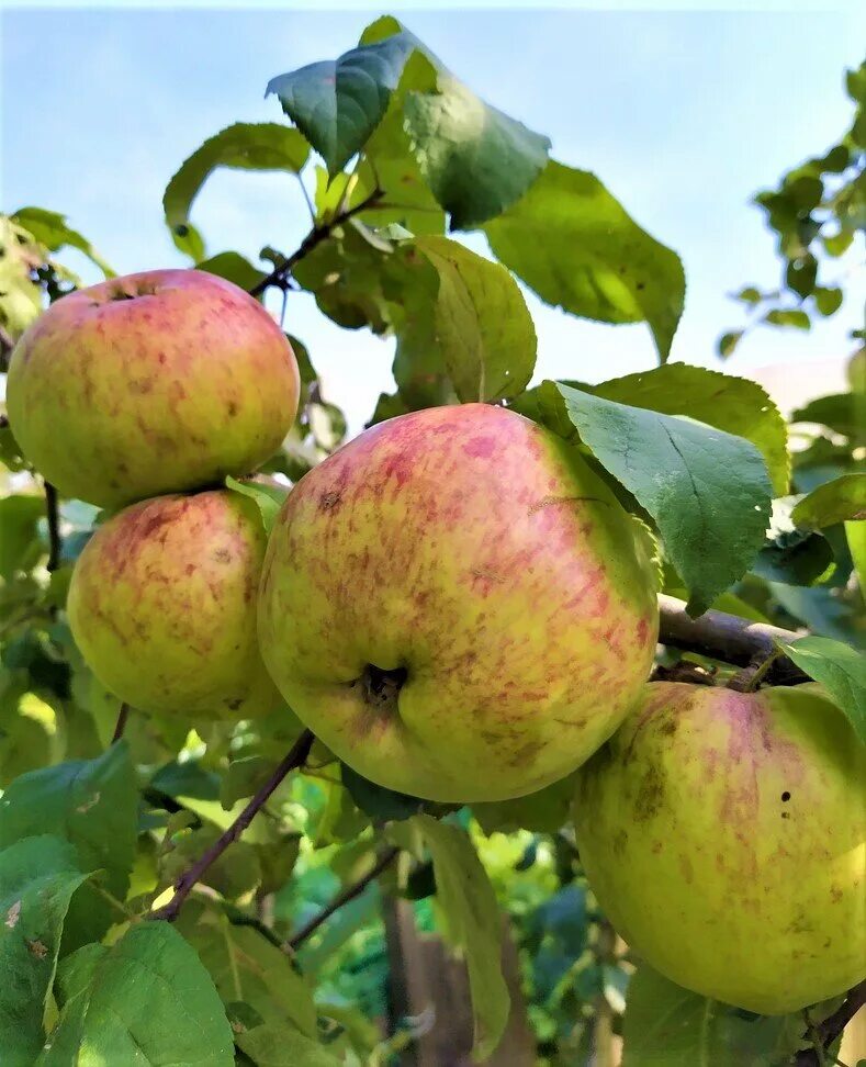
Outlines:
{"type": "Polygon", "coordinates": [[[63,495],[126,505],[69,589],[102,683],[191,720],[285,700],[359,773],[432,800],[580,768],[591,884],[668,977],[767,1013],[863,977],[866,767],[821,690],[646,685],[642,529],[573,447],[501,407],[372,427],[268,539],[223,483],[279,448],[297,398],[282,332],[198,271],[71,294],[22,337],[22,450],[63,495]]]}

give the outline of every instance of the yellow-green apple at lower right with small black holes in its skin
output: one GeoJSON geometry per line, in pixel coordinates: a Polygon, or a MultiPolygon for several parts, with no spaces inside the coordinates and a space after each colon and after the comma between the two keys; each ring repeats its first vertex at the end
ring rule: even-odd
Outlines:
{"type": "Polygon", "coordinates": [[[651,683],[576,777],[589,884],[672,981],[775,1015],[866,976],[866,754],[819,686],[651,683]]]}

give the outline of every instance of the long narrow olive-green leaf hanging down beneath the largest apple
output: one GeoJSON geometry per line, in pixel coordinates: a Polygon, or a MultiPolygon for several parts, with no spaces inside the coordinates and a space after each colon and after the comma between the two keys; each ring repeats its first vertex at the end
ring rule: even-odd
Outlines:
{"type": "Polygon", "coordinates": [[[493,886],[466,833],[459,827],[416,816],[430,850],[436,896],[448,921],[449,941],[462,948],[475,1017],[473,1055],[484,1059],[505,1032],[510,1010],[502,973],[502,926],[493,886]]]}

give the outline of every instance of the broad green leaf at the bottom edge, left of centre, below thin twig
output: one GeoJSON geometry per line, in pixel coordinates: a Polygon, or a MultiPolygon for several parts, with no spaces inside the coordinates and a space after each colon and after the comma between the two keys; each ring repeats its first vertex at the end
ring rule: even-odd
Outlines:
{"type": "Polygon", "coordinates": [[[194,950],[166,922],[143,922],[111,948],[79,950],[80,969],[37,1067],[148,1064],[234,1067],[232,1027],[194,950]]]}

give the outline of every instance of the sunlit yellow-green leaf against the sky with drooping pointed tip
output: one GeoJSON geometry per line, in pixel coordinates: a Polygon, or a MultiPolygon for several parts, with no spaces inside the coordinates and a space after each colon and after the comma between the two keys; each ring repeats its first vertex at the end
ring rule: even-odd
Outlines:
{"type": "Polygon", "coordinates": [[[683,314],[683,265],[594,175],[550,160],[484,229],[501,262],[542,300],[604,323],[646,322],[667,359],[683,314]]]}

